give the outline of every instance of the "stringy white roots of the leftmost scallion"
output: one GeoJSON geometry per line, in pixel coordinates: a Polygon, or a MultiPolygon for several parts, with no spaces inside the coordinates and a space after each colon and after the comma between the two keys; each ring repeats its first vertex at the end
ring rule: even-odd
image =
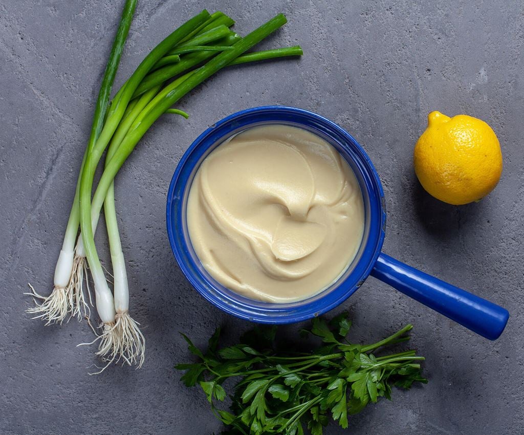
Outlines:
{"type": "Polygon", "coordinates": [[[28,308],[26,311],[30,314],[37,314],[33,319],[42,319],[46,321],[46,326],[53,323],[62,324],[70,311],[71,286],[55,286],[49,296],[39,295],[33,286],[28,284],[31,291],[25,293],[32,296],[36,307],[28,308]],[[38,303],[36,298],[41,299],[38,303]]]}

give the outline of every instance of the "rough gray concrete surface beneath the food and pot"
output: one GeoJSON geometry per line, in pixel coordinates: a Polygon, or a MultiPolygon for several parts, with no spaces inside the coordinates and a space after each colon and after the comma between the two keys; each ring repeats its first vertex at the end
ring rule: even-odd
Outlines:
{"type": "MultiPolygon", "coordinates": [[[[189,355],[178,331],[204,344],[247,322],[206,303],[182,276],[165,231],[169,180],[183,151],[217,119],[263,104],[330,117],[372,157],[384,183],[384,250],[507,307],[508,327],[489,342],[370,278],[341,309],[354,337],[374,340],[415,324],[429,384],[394,391],[328,434],[521,434],[524,423],[524,8],[518,1],[380,2],[141,0],[117,83],[200,8],[222,9],[245,33],[277,12],[289,24],[265,47],[300,43],[300,61],[232,68],[162,118],[116,182],[131,309],[147,338],[143,369],[96,362],[85,324],[30,320],[30,281],[49,292],[73,186],[119,8],[101,0],[0,1],[0,433],[219,432],[197,389],[173,370],[189,355]],[[238,4],[235,6],[235,4],[238,4]],[[504,173],[483,201],[456,208],[430,198],[412,170],[429,111],[485,119],[498,134],[504,173]]],[[[107,261],[105,237],[98,240],[107,261]]],[[[296,327],[283,329],[292,334],[296,327]]]]}

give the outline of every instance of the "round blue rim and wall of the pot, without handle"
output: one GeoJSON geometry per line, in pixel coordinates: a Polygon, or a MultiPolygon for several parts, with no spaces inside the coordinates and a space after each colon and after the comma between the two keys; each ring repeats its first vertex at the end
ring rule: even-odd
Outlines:
{"type": "Polygon", "coordinates": [[[320,316],[345,301],[373,269],[384,242],[386,213],[378,173],[358,142],[343,128],[318,114],[286,106],[249,108],[212,125],[185,151],[174,171],[167,195],[167,232],[173,254],[192,286],[216,307],[259,323],[294,323],[320,316]],[[359,252],[344,274],[309,299],[286,304],[261,302],[238,295],[212,278],[190,242],[186,222],[189,188],[202,160],[228,137],[263,124],[287,124],[307,129],[333,145],[355,172],[365,206],[365,233],[359,252]]]}

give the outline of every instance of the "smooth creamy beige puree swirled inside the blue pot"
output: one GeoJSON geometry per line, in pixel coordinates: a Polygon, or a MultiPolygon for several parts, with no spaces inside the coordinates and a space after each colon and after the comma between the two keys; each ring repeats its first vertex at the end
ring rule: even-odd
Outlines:
{"type": "Polygon", "coordinates": [[[290,302],[331,285],[362,241],[364,205],[339,152],[301,128],[265,125],[204,159],[189,192],[196,255],[221,284],[290,302]]]}

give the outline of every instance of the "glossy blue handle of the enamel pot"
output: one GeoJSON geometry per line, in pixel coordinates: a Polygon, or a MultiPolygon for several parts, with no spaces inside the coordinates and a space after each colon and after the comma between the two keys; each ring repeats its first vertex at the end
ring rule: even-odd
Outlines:
{"type": "Polygon", "coordinates": [[[378,256],[371,275],[489,340],[498,339],[508,322],[508,310],[389,255],[378,256]]]}

